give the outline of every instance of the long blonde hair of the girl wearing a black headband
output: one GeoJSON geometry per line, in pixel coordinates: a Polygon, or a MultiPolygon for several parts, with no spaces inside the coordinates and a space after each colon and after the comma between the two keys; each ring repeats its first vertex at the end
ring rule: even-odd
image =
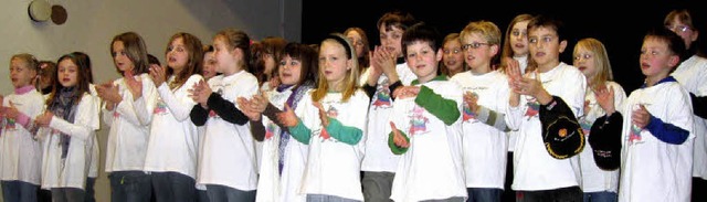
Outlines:
{"type": "MultiPolygon", "coordinates": [[[[348,102],[349,98],[351,98],[351,96],[358,89],[357,84],[358,84],[358,77],[359,77],[359,73],[358,73],[359,66],[358,66],[358,57],[356,56],[356,50],[351,45],[351,42],[349,42],[349,40],[344,34],[340,34],[340,33],[333,33],[328,35],[326,39],[321,41],[319,47],[324,46],[324,43],[327,43],[327,42],[339,44],[344,46],[344,50],[346,51],[346,59],[350,64],[350,68],[348,70],[348,74],[344,78],[344,84],[342,84],[344,91],[341,91],[344,96],[341,99],[344,102],[348,102]]],[[[321,50],[319,50],[319,52],[321,52],[321,50]]],[[[327,92],[329,91],[329,87],[330,87],[324,73],[321,73],[321,70],[324,70],[324,67],[321,66],[321,64],[319,64],[319,73],[318,73],[319,78],[317,81],[317,88],[312,93],[312,100],[314,102],[321,100],[327,95],[327,92]]]]}

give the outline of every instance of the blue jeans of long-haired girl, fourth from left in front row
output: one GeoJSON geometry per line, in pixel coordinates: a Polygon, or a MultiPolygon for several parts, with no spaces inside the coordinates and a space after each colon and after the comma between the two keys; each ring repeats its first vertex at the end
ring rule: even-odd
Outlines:
{"type": "Polygon", "coordinates": [[[157,202],[197,201],[197,181],[179,172],[152,172],[152,188],[157,202]]]}

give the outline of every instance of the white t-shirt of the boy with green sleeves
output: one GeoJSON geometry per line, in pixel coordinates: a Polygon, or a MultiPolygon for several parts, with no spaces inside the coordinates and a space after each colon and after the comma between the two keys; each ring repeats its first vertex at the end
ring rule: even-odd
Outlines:
{"type": "MultiPolygon", "coordinates": [[[[462,88],[456,83],[430,81],[423,86],[454,100],[457,110],[462,111],[462,88]]],[[[414,99],[395,99],[393,116],[390,117],[395,127],[410,138],[410,147],[398,163],[390,199],[403,202],[466,198],[462,117],[447,126],[414,99]]]]}

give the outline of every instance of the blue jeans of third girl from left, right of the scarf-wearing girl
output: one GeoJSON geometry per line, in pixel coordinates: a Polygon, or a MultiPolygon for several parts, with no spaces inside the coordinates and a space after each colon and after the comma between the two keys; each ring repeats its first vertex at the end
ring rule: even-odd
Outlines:
{"type": "Polygon", "coordinates": [[[114,171],[110,180],[110,201],[149,202],[152,195],[150,176],[144,171],[114,171]]]}

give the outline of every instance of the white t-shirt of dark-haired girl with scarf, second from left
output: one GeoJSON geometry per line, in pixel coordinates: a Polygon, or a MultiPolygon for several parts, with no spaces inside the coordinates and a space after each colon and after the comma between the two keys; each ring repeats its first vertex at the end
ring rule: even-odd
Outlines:
{"type": "Polygon", "coordinates": [[[77,104],[74,123],[54,116],[50,127],[39,131],[43,139],[42,189],[84,189],[91,168],[93,139],[99,128],[98,106],[94,96],[84,94],[77,104]],[[71,136],[66,158],[62,159],[61,136],[71,136]]]}

